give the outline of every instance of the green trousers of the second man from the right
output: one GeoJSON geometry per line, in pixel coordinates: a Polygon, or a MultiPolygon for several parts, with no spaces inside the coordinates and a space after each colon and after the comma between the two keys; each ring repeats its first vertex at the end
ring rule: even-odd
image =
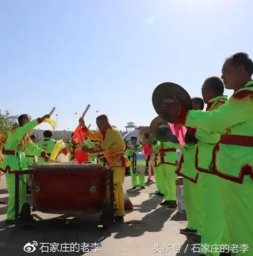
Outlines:
{"type": "Polygon", "coordinates": [[[201,172],[197,182],[201,185],[204,209],[201,253],[206,256],[219,256],[219,250],[210,250],[206,245],[211,247],[215,244],[229,244],[224,214],[225,204],[221,193],[223,179],[201,172]]]}

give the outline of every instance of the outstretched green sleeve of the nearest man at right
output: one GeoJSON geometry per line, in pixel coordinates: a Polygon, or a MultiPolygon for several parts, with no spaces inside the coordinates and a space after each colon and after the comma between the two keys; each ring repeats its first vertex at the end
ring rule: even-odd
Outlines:
{"type": "Polygon", "coordinates": [[[186,114],[185,125],[213,133],[222,132],[237,123],[252,119],[252,107],[253,101],[250,99],[233,99],[214,111],[191,110],[186,114]]]}

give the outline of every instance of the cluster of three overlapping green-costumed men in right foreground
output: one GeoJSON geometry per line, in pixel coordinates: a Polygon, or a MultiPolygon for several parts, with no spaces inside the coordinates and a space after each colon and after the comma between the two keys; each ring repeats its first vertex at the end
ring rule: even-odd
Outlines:
{"type": "Polygon", "coordinates": [[[163,101],[174,125],[188,128],[177,166],[184,178],[188,220],[180,232],[196,235],[193,243],[201,244],[202,255],[251,256],[253,62],[248,54],[236,53],[225,60],[221,72],[222,80],[210,77],[202,86],[206,111],[201,100],[193,99],[190,111],[177,98],[174,104],[163,101]],[[229,99],[224,86],[234,91],[229,99]],[[205,252],[206,245],[213,250],[205,252]],[[220,254],[215,245],[230,252],[220,254]]]}

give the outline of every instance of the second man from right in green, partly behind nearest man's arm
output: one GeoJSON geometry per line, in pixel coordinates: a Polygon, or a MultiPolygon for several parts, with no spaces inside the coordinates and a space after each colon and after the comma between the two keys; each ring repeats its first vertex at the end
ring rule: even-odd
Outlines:
{"type": "MultiPolygon", "coordinates": [[[[207,104],[206,111],[213,111],[227,102],[227,96],[223,95],[224,84],[219,77],[213,76],[205,79],[201,91],[204,103],[207,104]]],[[[224,220],[220,217],[222,215],[221,192],[218,177],[210,175],[208,168],[212,161],[213,148],[220,140],[220,133],[209,133],[190,128],[190,134],[198,140],[195,167],[198,175],[196,185],[199,193],[195,196],[195,203],[196,207],[200,209],[198,223],[201,227],[201,230],[198,230],[198,235],[201,237],[195,237],[192,243],[201,243],[203,246],[205,244],[219,244],[221,243],[221,235],[224,233],[224,220]]],[[[215,253],[209,255],[215,255],[215,253]]]]}

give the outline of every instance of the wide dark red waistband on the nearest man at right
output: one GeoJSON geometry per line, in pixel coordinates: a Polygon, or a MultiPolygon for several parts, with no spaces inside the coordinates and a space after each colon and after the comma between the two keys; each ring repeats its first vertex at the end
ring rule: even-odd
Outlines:
{"type": "Polygon", "coordinates": [[[226,145],[253,147],[253,136],[225,134],[221,135],[219,143],[226,145]]]}

